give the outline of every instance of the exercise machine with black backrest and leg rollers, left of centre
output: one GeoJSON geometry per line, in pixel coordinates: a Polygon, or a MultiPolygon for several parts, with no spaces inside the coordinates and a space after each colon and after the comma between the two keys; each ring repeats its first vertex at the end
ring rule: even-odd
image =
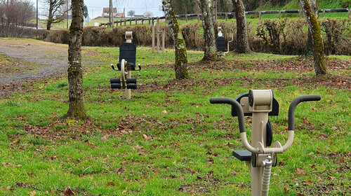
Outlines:
{"type": "Polygon", "coordinates": [[[117,69],[111,64],[113,70],[121,71],[121,78],[110,79],[111,88],[125,89],[126,99],[131,99],[131,89],[137,89],[136,78],[131,78],[131,71],[141,70],[140,64],[135,69],[136,47],[131,43],[132,35],[132,31],[126,31],[126,42],[119,46],[119,63],[117,64],[117,69]]]}

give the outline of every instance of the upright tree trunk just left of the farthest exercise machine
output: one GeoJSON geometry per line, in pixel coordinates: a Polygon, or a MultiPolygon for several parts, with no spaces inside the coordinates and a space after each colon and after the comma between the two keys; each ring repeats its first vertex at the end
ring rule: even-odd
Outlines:
{"type": "Polygon", "coordinates": [[[204,28],[204,61],[212,61],[217,59],[216,36],[213,27],[212,12],[208,0],[200,0],[200,8],[202,13],[202,28],[204,28]]]}

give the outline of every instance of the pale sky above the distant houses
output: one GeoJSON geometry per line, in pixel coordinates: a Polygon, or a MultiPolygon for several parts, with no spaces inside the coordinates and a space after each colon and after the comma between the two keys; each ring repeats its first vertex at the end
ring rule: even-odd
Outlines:
{"type": "MultiPolygon", "coordinates": [[[[36,6],[37,0],[31,0],[36,6]]],[[[39,0],[39,12],[41,13],[41,3],[39,0]]],[[[70,0],[69,0],[70,1],[70,0]]],[[[102,8],[109,7],[109,0],[84,0],[86,6],[88,6],[89,18],[96,18],[101,16],[102,8]]],[[[135,10],[135,14],[143,14],[146,10],[154,14],[154,16],[163,15],[162,11],[159,10],[159,6],[162,5],[161,0],[113,0],[114,8],[117,7],[118,12],[123,12],[126,8],[126,15],[129,10],[135,10]]]]}

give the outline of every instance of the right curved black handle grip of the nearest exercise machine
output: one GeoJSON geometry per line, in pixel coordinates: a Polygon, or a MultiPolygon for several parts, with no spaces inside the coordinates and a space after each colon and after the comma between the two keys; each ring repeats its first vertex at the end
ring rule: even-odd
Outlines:
{"type": "Polygon", "coordinates": [[[319,94],[314,94],[314,95],[305,95],[305,96],[300,96],[296,99],[293,99],[293,102],[291,102],[289,106],[289,122],[288,122],[288,130],[293,131],[295,130],[295,108],[298,104],[301,102],[317,102],[321,100],[321,96],[319,94]]]}

